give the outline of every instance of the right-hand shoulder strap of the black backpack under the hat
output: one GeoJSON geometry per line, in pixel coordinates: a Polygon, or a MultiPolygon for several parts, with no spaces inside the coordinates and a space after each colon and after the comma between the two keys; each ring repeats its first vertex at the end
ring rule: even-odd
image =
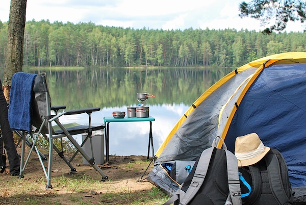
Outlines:
{"type": "MultiPolygon", "coordinates": [[[[287,193],[284,190],[284,185],[282,184],[283,180],[282,180],[281,167],[279,166],[278,158],[274,153],[273,154],[272,153],[267,153],[267,155],[265,156],[268,177],[269,177],[269,184],[275,199],[278,201],[279,204],[284,204],[285,202],[288,201],[290,202],[290,200],[287,196],[287,193]]],[[[286,174],[288,175],[288,173],[286,174]]],[[[291,201],[291,203],[292,202],[293,201],[291,201]]]]}

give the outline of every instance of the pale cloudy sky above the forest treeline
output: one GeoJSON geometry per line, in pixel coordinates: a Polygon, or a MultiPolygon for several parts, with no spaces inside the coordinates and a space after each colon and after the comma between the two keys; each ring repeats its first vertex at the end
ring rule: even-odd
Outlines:
{"type": "MultiPolygon", "coordinates": [[[[28,0],[26,21],[49,20],[133,29],[243,29],[263,31],[259,20],[240,18],[243,0],[28,0]]],[[[250,0],[249,0],[250,1],[250,0]]],[[[246,2],[249,2],[246,0],[246,2]]],[[[1,0],[0,20],[9,20],[11,0],[1,0]]],[[[291,22],[287,32],[302,32],[291,22]]]]}

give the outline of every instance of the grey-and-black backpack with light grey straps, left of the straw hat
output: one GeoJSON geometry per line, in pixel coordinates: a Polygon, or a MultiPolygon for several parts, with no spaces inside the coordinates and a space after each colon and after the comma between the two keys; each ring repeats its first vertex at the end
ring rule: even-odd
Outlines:
{"type": "Polygon", "coordinates": [[[164,205],[241,204],[237,158],[224,142],[223,149],[216,148],[216,139],[211,148],[202,151],[182,187],[164,205]]]}

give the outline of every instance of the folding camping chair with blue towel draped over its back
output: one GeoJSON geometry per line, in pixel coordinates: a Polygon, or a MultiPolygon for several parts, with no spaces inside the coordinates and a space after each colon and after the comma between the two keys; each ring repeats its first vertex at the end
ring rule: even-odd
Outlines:
{"type": "MultiPolygon", "coordinates": [[[[100,108],[86,108],[72,111],[65,111],[58,114],[59,110],[66,109],[66,106],[51,106],[51,99],[48,92],[47,80],[45,73],[29,74],[24,72],[17,72],[13,75],[9,105],[9,122],[13,130],[22,132],[22,148],[21,148],[21,162],[20,162],[20,174],[19,177],[23,177],[24,169],[29,161],[32,151],[38,153],[38,159],[43,168],[44,174],[47,179],[46,189],[52,189],[51,185],[51,171],[52,171],[52,159],[53,149],[56,150],[58,155],[65,161],[70,167],[70,173],[77,172],[71,165],[71,161],[77,155],[81,153],[84,159],[102,176],[101,181],[108,180],[108,177],[103,171],[95,164],[94,157],[89,157],[82,146],[90,139],[91,151],[92,150],[92,132],[97,130],[103,130],[104,125],[91,126],[91,113],[99,111],[100,108]],[[51,114],[53,111],[55,114],[51,114]],[[75,115],[87,113],[89,123],[88,125],[80,125],[78,123],[62,124],[59,118],[63,115],[75,115]],[[54,126],[53,126],[53,124],[54,126]],[[72,137],[73,135],[84,134],[87,136],[83,140],[83,143],[79,143],[72,137]],[[32,146],[27,159],[25,157],[25,144],[27,144],[26,136],[30,136],[32,140],[32,146]],[[44,166],[37,148],[37,140],[39,137],[43,137],[49,143],[49,157],[48,165],[44,166]],[[62,138],[67,137],[68,141],[73,144],[77,149],[74,155],[68,160],[64,156],[62,138]],[[58,148],[54,139],[61,140],[61,148],[58,148]]],[[[20,133],[20,132],[19,132],[20,133]]]]}

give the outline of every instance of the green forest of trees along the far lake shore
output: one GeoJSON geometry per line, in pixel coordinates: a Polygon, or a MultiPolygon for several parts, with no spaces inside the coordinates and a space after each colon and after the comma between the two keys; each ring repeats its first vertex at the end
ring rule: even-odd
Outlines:
{"type": "MultiPolygon", "coordinates": [[[[0,20],[0,67],[8,22],[0,20]]],[[[241,66],[283,52],[305,52],[306,34],[235,29],[151,30],[27,21],[23,66],[241,66]]]]}

